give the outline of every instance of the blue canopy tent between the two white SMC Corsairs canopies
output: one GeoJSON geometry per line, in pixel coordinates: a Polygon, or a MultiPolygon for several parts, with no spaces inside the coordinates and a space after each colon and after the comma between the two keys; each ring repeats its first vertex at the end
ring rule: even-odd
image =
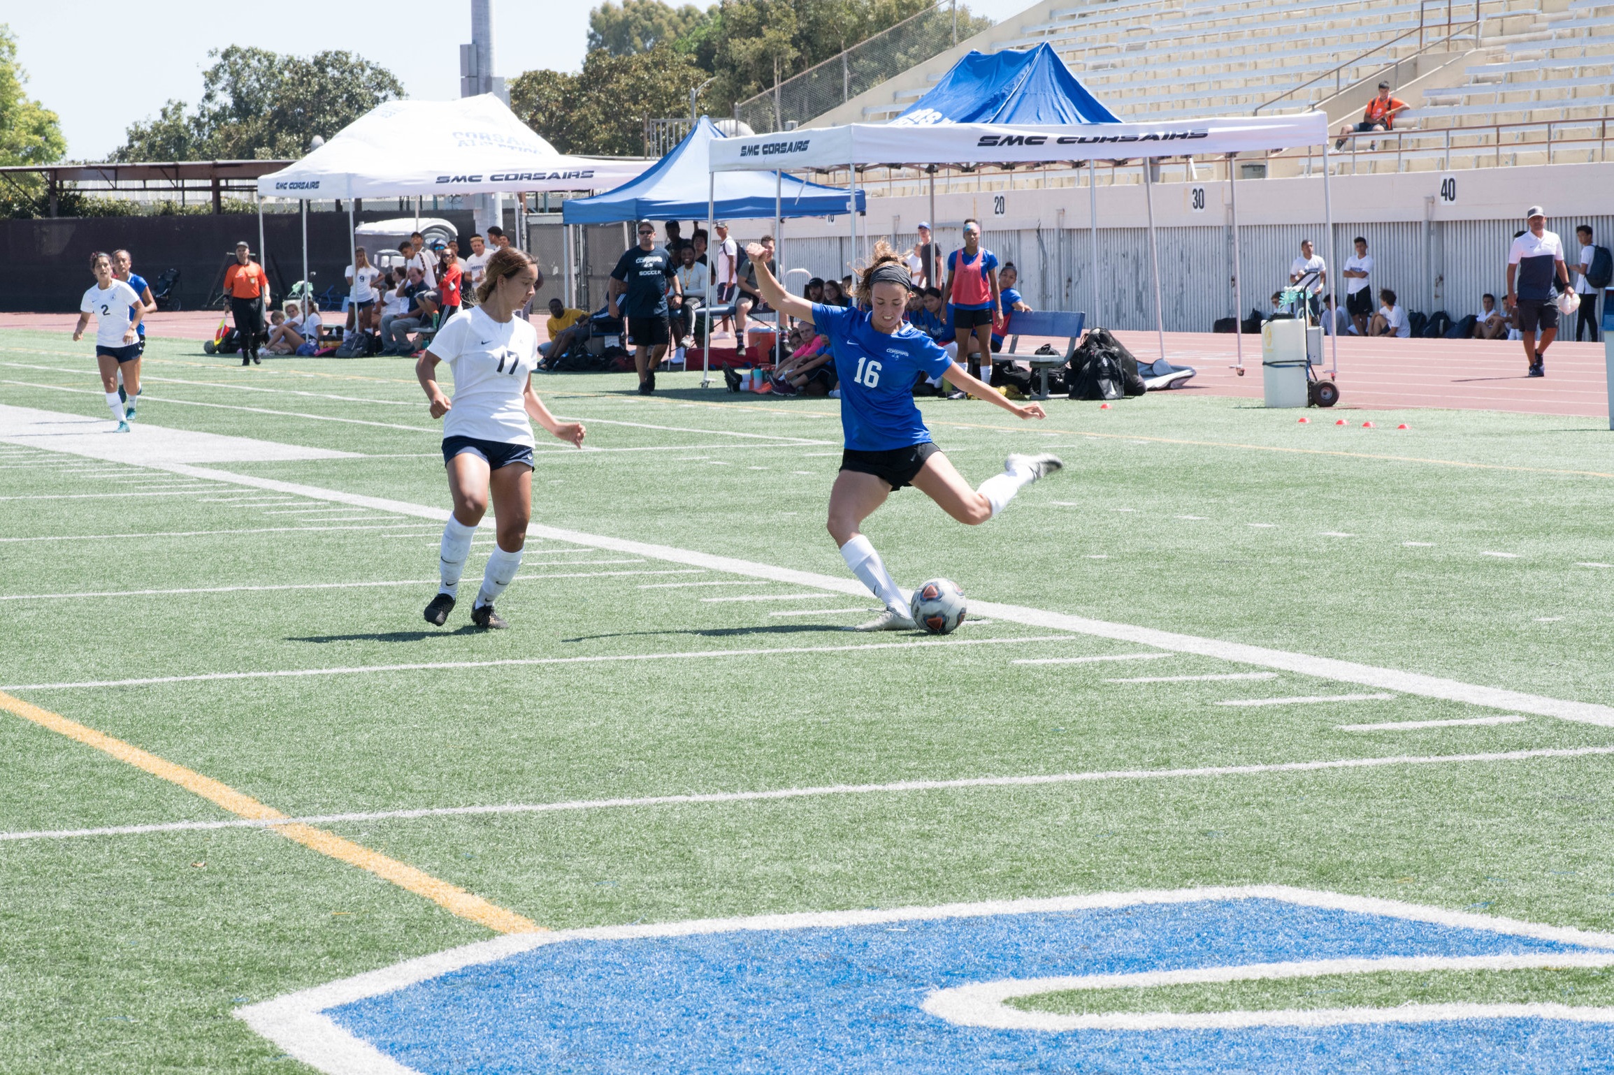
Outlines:
{"type": "MultiPolygon", "coordinates": [[[[797,216],[839,216],[846,213],[855,197],[857,213],[867,211],[867,195],[839,187],[805,182],[784,172],[773,172],[768,182],[767,172],[713,172],[710,147],[718,139],[725,139],[710,118],[700,121],[684,137],[683,142],[663,156],[657,164],[636,179],[625,182],[615,190],[594,195],[592,198],[576,198],[562,208],[562,222],[571,224],[615,224],[618,221],[679,221],[707,219],[707,234],[718,219],[728,218],[773,218],[775,230],[783,232],[783,221],[797,216]],[[705,187],[705,190],[702,190],[705,187]],[[700,195],[705,195],[704,198],[700,195]]],[[[854,218],[855,227],[855,218],[854,218]]],[[[780,266],[783,279],[784,237],[775,235],[775,264],[780,266]]],[[[567,297],[571,288],[571,256],[567,255],[567,297]]],[[[717,316],[725,316],[726,308],[717,316]]],[[[710,340],[713,308],[707,306],[707,340],[710,340]]],[[[709,350],[709,348],[707,348],[709,350]]],[[[707,353],[702,350],[702,355],[707,353]]],[[[704,358],[702,366],[710,359],[704,358]]],[[[707,385],[710,374],[704,369],[700,384],[707,385]]]]}

